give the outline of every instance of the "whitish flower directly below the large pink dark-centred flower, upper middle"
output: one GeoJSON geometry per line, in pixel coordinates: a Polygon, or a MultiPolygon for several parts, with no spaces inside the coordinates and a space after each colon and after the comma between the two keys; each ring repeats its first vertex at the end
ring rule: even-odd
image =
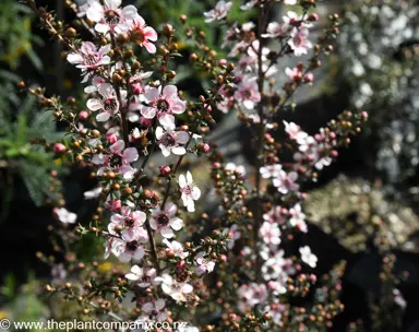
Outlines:
{"type": "Polygon", "coordinates": [[[157,127],[156,139],[158,140],[158,147],[160,147],[165,157],[168,157],[170,153],[176,155],[183,155],[187,153],[187,150],[181,146],[189,141],[189,133],[185,131],[175,131],[172,128],[166,128],[165,130],[161,127],[157,127]]]}

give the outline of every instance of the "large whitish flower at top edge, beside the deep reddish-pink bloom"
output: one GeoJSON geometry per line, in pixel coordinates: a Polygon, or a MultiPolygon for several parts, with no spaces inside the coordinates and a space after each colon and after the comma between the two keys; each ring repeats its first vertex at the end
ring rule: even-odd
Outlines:
{"type": "Polygon", "coordinates": [[[136,8],[132,4],[120,5],[122,0],[106,0],[104,5],[99,2],[93,2],[87,9],[87,19],[96,22],[95,29],[98,33],[107,34],[108,32],[124,33],[129,29],[129,22],[137,15],[136,8]]]}

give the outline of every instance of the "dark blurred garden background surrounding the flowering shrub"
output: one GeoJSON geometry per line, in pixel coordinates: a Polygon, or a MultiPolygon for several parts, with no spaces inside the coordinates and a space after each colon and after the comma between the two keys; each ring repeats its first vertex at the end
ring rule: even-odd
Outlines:
{"type": "MultiPolygon", "coordinates": [[[[80,1],[82,3],[83,1],[80,1]]],[[[216,1],[139,0],[139,13],[152,26],[187,14],[190,23],[205,31],[220,55],[223,27],[207,26],[202,13],[216,1]]],[[[74,19],[64,0],[37,0],[53,9],[61,20],[74,19]]],[[[292,114],[278,115],[309,133],[344,109],[366,110],[370,120],[349,149],[319,175],[306,190],[310,230],[306,241],[319,257],[315,273],[321,275],[339,260],[347,261],[343,283],[345,311],[334,331],[419,331],[419,3],[417,1],[318,1],[318,13],[325,17],[339,13],[343,24],[335,52],[315,72],[313,87],[296,95],[292,114]],[[391,274],[403,275],[394,295],[400,310],[392,306],[386,287],[384,261],[395,261],[391,274]],[[383,272],[384,271],[384,272],[383,272]]],[[[284,13],[273,13],[282,20],[284,13]]],[[[175,19],[176,20],[175,20],[175,19]]],[[[231,20],[252,21],[235,5],[231,20]]],[[[175,22],[176,21],[176,22],[175,22]]],[[[325,20],[326,21],[326,20],[325,20]]],[[[311,35],[321,32],[321,26],[311,35]]],[[[193,51],[179,36],[181,54],[193,51]]],[[[39,137],[57,140],[64,128],[52,122],[52,115],[40,112],[33,98],[19,92],[21,80],[45,86],[47,94],[62,98],[82,94],[79,72],[61,59],[60,46],[38,28],[32,12],[15,0],[0,1],[0,317],[39,317],[48,310],[37,298],[39,283],[51,277],[48,264],[36,252],[53,252],[48,225],[57,223],[45,203],[51,197],[57,171],[67,208],[88,222],[95,204],[83,193],[95,187],[88,170],[63,166],[52,153],[31,144],[39,137]],[[36,304],[36,306],[34,306],[36,304]],[[23,309],[22,309],[23,308],[23,309]],[[3,313],[1,313],[3,312],[3,313]]],[[[279,73],[292,67],[283,58],[279,73]]],[[[176,71],[181,90],[197,96],[207,86],[205,76],[194,73],[180,60],[176,71]]],[[[278,75],[278,88],[285,82],[278,75]]],[[[250,165],[253,152],[249,134],[235,115],[216,114],[215,140],[236,164],[250,165]]],[[[81,250],[88,256],[94,240],[84,239],[81,250]]],[[[52,271],[52,274],[57,271],[52,271]]]]}

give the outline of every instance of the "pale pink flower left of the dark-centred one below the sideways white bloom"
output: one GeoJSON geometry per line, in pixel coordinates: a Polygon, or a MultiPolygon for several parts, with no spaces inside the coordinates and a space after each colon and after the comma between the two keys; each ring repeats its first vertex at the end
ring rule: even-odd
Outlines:
{"type": "Polygon", "coordinates": [[[131,211],[129,206],[122,206],[121,213],[116,213],[110,217],[111,223],[108,225],[110,234],[118,234],[115,229],[117,226],[122,230],[119,233],[128,240],[133,240],[139,232],[143,232],[143,224],[147,218],[142,211],[131,211]]]}

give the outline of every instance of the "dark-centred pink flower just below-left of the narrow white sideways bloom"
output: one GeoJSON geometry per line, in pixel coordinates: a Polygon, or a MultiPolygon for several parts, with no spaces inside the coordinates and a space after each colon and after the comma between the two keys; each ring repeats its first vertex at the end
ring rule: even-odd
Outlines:
{"type": "Polygon", "coordinates": [[[159,206],[153,210],[149,226],[159,232],[163,237],[172,238],[175,236],[172,229],[180,230],[183,227],[183,221],[176,216],[177,210],[173,203],[167,203],[163,211],[159,206]]]}

